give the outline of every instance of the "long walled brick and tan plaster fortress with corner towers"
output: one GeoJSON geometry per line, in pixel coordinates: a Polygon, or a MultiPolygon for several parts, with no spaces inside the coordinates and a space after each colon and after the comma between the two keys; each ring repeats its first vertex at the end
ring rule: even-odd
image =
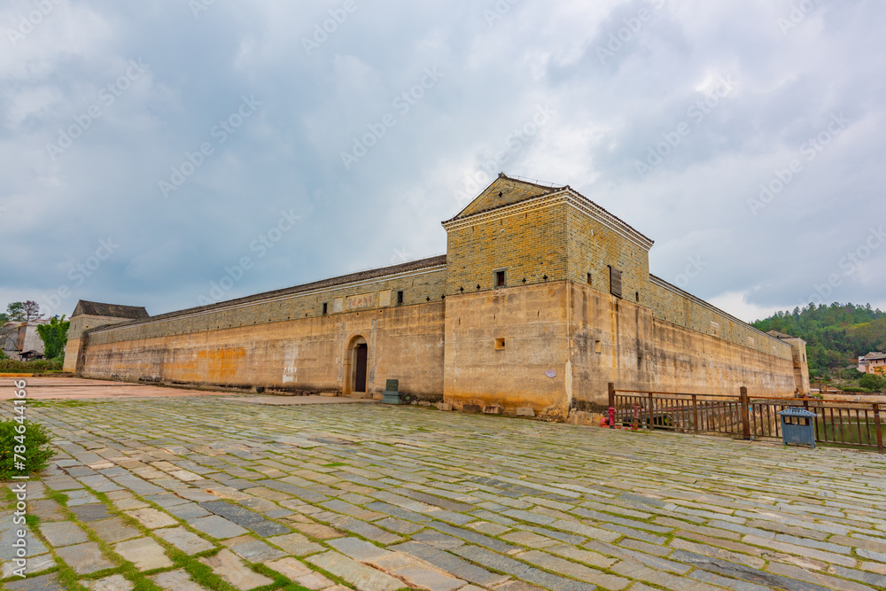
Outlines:
{"type": "Polygon", "coordinates": [[[443,222],[445,255],[169,314],[81,301],[84,377],[379,395],[565,418],[639,391],[809,391],[805,344],[649,273],[653,243],[569,186],[506,175],[443,222]]]}

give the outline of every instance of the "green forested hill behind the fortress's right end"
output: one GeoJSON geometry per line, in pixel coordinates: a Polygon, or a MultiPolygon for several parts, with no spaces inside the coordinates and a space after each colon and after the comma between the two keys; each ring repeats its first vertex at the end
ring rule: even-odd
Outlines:
{"type": "Polygon", "coordinates": [[[752,324],[764,332],[781,330],[803,338],[811,377],[830,375],[871,351],[886,351],[886,312],[870,304],[810,304],[752,324]]]}

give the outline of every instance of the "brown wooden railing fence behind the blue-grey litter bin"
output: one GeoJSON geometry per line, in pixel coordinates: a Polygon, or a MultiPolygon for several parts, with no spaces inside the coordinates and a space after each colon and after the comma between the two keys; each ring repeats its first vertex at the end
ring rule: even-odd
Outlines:
{"type": "Polygon", "coordinates": [[[617,390],[609,385],[615,424],[685,433],[720,433],[742,439],[781,439],[781,417],[789,407],[812,411],[819,443],[883,451],[880,407],[875,402],[844,402],[797,398],[750,397],[742,387],[737,397],[617,390]]]}

